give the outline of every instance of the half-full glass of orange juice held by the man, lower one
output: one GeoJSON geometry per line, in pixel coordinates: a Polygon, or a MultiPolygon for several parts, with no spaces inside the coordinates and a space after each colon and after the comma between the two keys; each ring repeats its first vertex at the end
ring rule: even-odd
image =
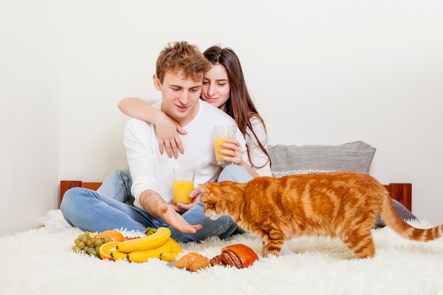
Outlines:
{"type": "Polygon", "coordinates": [[[173,168],[172,194],[174,204],[190,204],[189,193],[194,189],[194,169],[173,168]]]}

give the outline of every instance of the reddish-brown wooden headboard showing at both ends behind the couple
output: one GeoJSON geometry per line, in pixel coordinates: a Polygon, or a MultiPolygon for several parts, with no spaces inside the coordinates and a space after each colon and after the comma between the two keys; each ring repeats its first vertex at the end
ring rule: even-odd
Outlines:
{"type": "MultiPolygon", "coordinates": [[[[101,183],[84,183],[81,180],[60,181],[59,207],[64,193],[71,187],[86,187],[91,190],[97,190],[100,185],[101,183]]],[[[413,185],[411,183],[389,183],[389,185],[384,185],[384,187],[386,187],[393,199],[401,202],[409,211],[412,211],[413,185]]]]}

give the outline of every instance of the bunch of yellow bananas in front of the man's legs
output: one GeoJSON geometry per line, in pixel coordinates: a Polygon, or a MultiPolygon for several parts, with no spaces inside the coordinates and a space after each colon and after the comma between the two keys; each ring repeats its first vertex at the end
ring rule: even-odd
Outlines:
{"type": "Polygon", "coordinates": [[[149,229],[146,235],[118,243],[110,255],[115,260],[130,262],[146,262],[149,258],[170,262],[176,260],[178,253],[182,252],[180,244],[171,238],[171,230],[167,227],[149,229]]]}

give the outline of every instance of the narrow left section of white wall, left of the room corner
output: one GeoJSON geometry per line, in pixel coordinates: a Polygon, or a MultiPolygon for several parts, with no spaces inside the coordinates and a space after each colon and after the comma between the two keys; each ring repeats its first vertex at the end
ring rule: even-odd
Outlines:
{"type": "Polygon", "coordinates": [[[0,2],[0,236],[56,208],[59,8],[0,2]]]}

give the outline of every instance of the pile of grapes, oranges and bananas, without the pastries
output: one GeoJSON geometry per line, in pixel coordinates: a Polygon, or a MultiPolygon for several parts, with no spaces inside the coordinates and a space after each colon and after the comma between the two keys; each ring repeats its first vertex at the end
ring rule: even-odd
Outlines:
{"type": "Polygon", "coordinates": [[[129,238],[119,231],[103,231],[97,236],[85,231],[75,239],[72,250],[86,253],[101,259],[146,262],[149,258],[174,261],[182,248],[171,238],[171,230],[166,227],[147,229],[146,236],[129,238]]]}

